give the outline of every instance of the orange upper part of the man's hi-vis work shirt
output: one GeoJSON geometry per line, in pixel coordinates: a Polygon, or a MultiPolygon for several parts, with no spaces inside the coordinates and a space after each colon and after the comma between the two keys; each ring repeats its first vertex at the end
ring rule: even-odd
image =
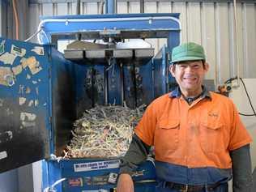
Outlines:
{"type": "Polygon", "coordinates": [[[229,151],[252,139],[232,100],[214,92],[188,105],[165,94],[147,107],[135,134],[155,146],[156,160],[188,168],[232,168],[229,151]]]}

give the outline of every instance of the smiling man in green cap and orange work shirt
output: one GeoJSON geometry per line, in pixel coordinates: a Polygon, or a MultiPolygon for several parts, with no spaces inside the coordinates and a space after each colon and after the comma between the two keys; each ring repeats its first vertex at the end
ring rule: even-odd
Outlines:
{"type": "Polygon", "coordinates": [[[186,43],[172,52],[169,70],[178,83],[147,107],[122,159],[117,192],[134,191],[133,169],[156,152],[156,191],[250,192],[250,143],[233,102],[207,91],[209,69],[201,45],[186,43]]]}

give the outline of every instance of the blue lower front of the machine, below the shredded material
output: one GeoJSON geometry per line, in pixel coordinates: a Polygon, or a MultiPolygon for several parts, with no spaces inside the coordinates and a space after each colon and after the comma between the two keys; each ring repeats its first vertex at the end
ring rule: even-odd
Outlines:
{"type": "MultiPolygon", "coordinates": [[[[107,168],[99,170],[89,170],[89,171],[75,171],[76,164],[86,164],[86,163],[95,163],[95,162],[106,162],[108,160],[104,159],[73,159],[73,160],[50,160],[48,161],[48,169],[51,177],[49,177],[49,186],[53,185],[55,181],[58,181],[61,178],[66,178],[66,181],[62,181],[62,185],[55,187],[55,190],[62,192],[80,192],[82,190],[113,190],[116,188],[116,184],[111,184],[108,181],[109,173],[118,173],[118,168],[107,168]],[[105,178],[105,180],[102,180],[105,178]],[[92,182],[94,180],[94,182],[92,182]]],[[[134,188],[135,192],[155,192],[156,187],[156,171],[155,165],[151,161],[146,161],[141,164],[137,173],[134,174],[134,188]],[[143,183],[143,181],[145,181],[143,183]],[[149,182],[148,182],[149,181],[149,182]]],[[[47,186],[45,186],[46,188],[47,186]]],[[[44,188],[44,189],[45,189],[44,188]]]]}

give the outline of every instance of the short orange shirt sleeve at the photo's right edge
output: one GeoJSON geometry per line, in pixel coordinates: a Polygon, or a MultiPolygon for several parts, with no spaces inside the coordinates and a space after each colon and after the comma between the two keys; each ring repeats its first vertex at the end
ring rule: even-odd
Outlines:
{"type": "Polygon", "coordinates": [[[232,129],[230,132],[230,142],[228,144],[229,151],[233,151],[237,148],[240,148],[252,142],[250,134],[248,133],[245,126],[241,122],[241,118],[234,104],[233,104],[233,125],[231,128],[232,129]]]}

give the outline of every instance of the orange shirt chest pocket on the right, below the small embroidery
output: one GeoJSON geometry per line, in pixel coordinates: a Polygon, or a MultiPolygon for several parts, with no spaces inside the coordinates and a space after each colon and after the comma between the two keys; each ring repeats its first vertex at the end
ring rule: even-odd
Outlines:
{"type": "Polygon", "coordinates": [[[217,153],[224,150],[223,126],[222,122],[215,120],[201,122],[199,138],[203,151],[217,153]]]}

